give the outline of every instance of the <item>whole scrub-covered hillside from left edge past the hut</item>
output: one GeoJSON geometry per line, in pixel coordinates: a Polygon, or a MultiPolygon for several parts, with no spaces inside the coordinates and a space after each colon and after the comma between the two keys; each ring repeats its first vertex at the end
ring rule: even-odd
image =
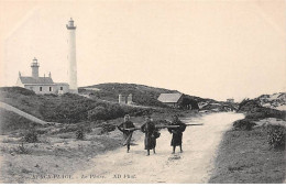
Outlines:
{"type": "MultiPolygon", "coordinates": [[[[0,101],[44,121],[77,123],[122,118],[127,113],[142,116],[164,108],[169,110],[167,106],[157,100],[163,92],[179,91],[135,84],[100,84],[79,88],[80,95],[88,96],[82,97],[73,94],[35,95],[33,91],[20,87],[2,87],[0,88],[0,101]],[[133,102],[139,107],[117,103],[119,94],[123,96],[132,94],[133,102]]],[[[185,96],[198,103],[207,103],[202,110],[228,111],[224,102],[185,96]]]]}

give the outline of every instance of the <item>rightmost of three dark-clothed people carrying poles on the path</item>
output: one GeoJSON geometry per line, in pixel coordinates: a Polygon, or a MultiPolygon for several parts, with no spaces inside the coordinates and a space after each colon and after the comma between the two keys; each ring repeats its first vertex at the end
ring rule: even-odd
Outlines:
{"type": "Polygon", "coordinates": [[[179,146],[180,153],[183,153],[182,150],[182,139],[183,139],[183,132],[186,130],[186,124],[183,123],[177,116],[173,117],[173,121],[170,125],[179,125],[178,128],[168,128],[168,132],[173,134],[170,146],[173,146],[173,154],[176,151],[176,146],[179,146]]]}

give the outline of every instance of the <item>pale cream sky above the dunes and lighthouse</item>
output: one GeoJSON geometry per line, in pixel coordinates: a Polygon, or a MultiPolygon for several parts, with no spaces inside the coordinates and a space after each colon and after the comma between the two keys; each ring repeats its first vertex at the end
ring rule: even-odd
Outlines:
{"type": "Polygon", "coordinates": [[[286,91],[283,0],[0,0],[0,86],[18,73],[67,79],[73,18],[78,86],[132,82],[226,100],[286,91]]]}

